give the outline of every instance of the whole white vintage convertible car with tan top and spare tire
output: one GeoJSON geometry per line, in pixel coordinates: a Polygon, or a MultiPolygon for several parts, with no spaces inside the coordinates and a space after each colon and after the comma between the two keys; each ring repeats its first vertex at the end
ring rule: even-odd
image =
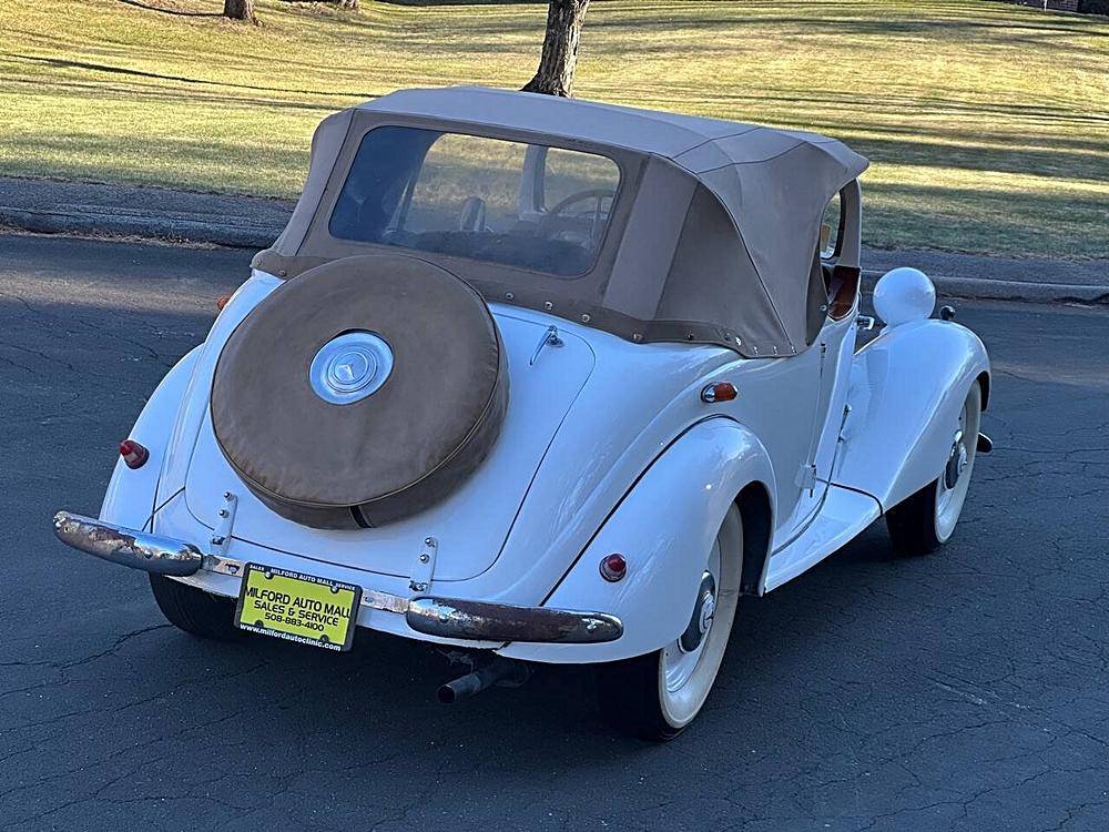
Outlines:
{"type": "Polygon", "coordinates": [[[837,141],[488,89],[324,120],[288,226],[121,446],[65,544],[166,618],[471,659],[440,698],[592,663],[676,734],[762,596],[885,516],[950,538],[981,342],[912,268],[859,310],[837,141]],[[469,650],[465,650],[469,648],[469,650]]]}

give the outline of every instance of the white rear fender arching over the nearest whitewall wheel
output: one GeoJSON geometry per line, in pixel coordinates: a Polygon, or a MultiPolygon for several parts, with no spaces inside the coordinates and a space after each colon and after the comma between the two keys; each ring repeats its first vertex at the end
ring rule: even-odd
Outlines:
{"type": "Polygon", "coordinates": [[[698,423],[659,456],[609,516],[543,606],[610,612],[623,636],[603,645],[513,643],[517,659],[587,663],[658,650],[689,625],[705,558],[729,506],[751,483],[776,494],[766,449],[728,418],[698,423]],[[627,577],[615,584],[599,570],[602,557],[622,554],[627,577]]]}

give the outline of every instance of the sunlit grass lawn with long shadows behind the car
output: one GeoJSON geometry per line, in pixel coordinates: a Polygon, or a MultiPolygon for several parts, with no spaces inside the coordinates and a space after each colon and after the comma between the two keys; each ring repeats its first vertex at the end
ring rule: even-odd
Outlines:
{"type": "MultiPolygon", "coordinates": [[[[0,173],[293,196],[326,113],[519,87],[543,4],[261,0],[0,11],[0,173]]],[[[872,159],[881,246],[1109,256],[1109,19],[988,0],[603,0],[577,92],[825,132],[872,159]]]]}

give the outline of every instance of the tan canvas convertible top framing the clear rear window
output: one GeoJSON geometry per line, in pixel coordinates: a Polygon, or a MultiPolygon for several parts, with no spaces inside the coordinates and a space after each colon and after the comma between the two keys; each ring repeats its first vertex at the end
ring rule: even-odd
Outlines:
{"type": "Polygon", "coordinates": [[[384,247],[343,239],[330,224],[364,138],[383,126],[566,148],[619,165],[608,231],[581,275],[417,253],[488,301],[635,342],[714,343],[760,357],[811,343],[827,300],[816,256],[822,215],[867,166],[813,133],[484,88],[401,91],[323,121],[304,192],[256,268],[293,277],[384,247]]]}

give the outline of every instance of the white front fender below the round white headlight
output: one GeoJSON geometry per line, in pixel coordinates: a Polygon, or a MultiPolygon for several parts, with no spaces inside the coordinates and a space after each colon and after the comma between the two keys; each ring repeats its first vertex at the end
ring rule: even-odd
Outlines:
{"type": "Polygon", "coordinates": [[[943,471],[983,375],[986,348],[966,327],[936,319],[887,327],[855,356],[833,481],[873,495],[883,510],[926,486],[943,471]]]}

